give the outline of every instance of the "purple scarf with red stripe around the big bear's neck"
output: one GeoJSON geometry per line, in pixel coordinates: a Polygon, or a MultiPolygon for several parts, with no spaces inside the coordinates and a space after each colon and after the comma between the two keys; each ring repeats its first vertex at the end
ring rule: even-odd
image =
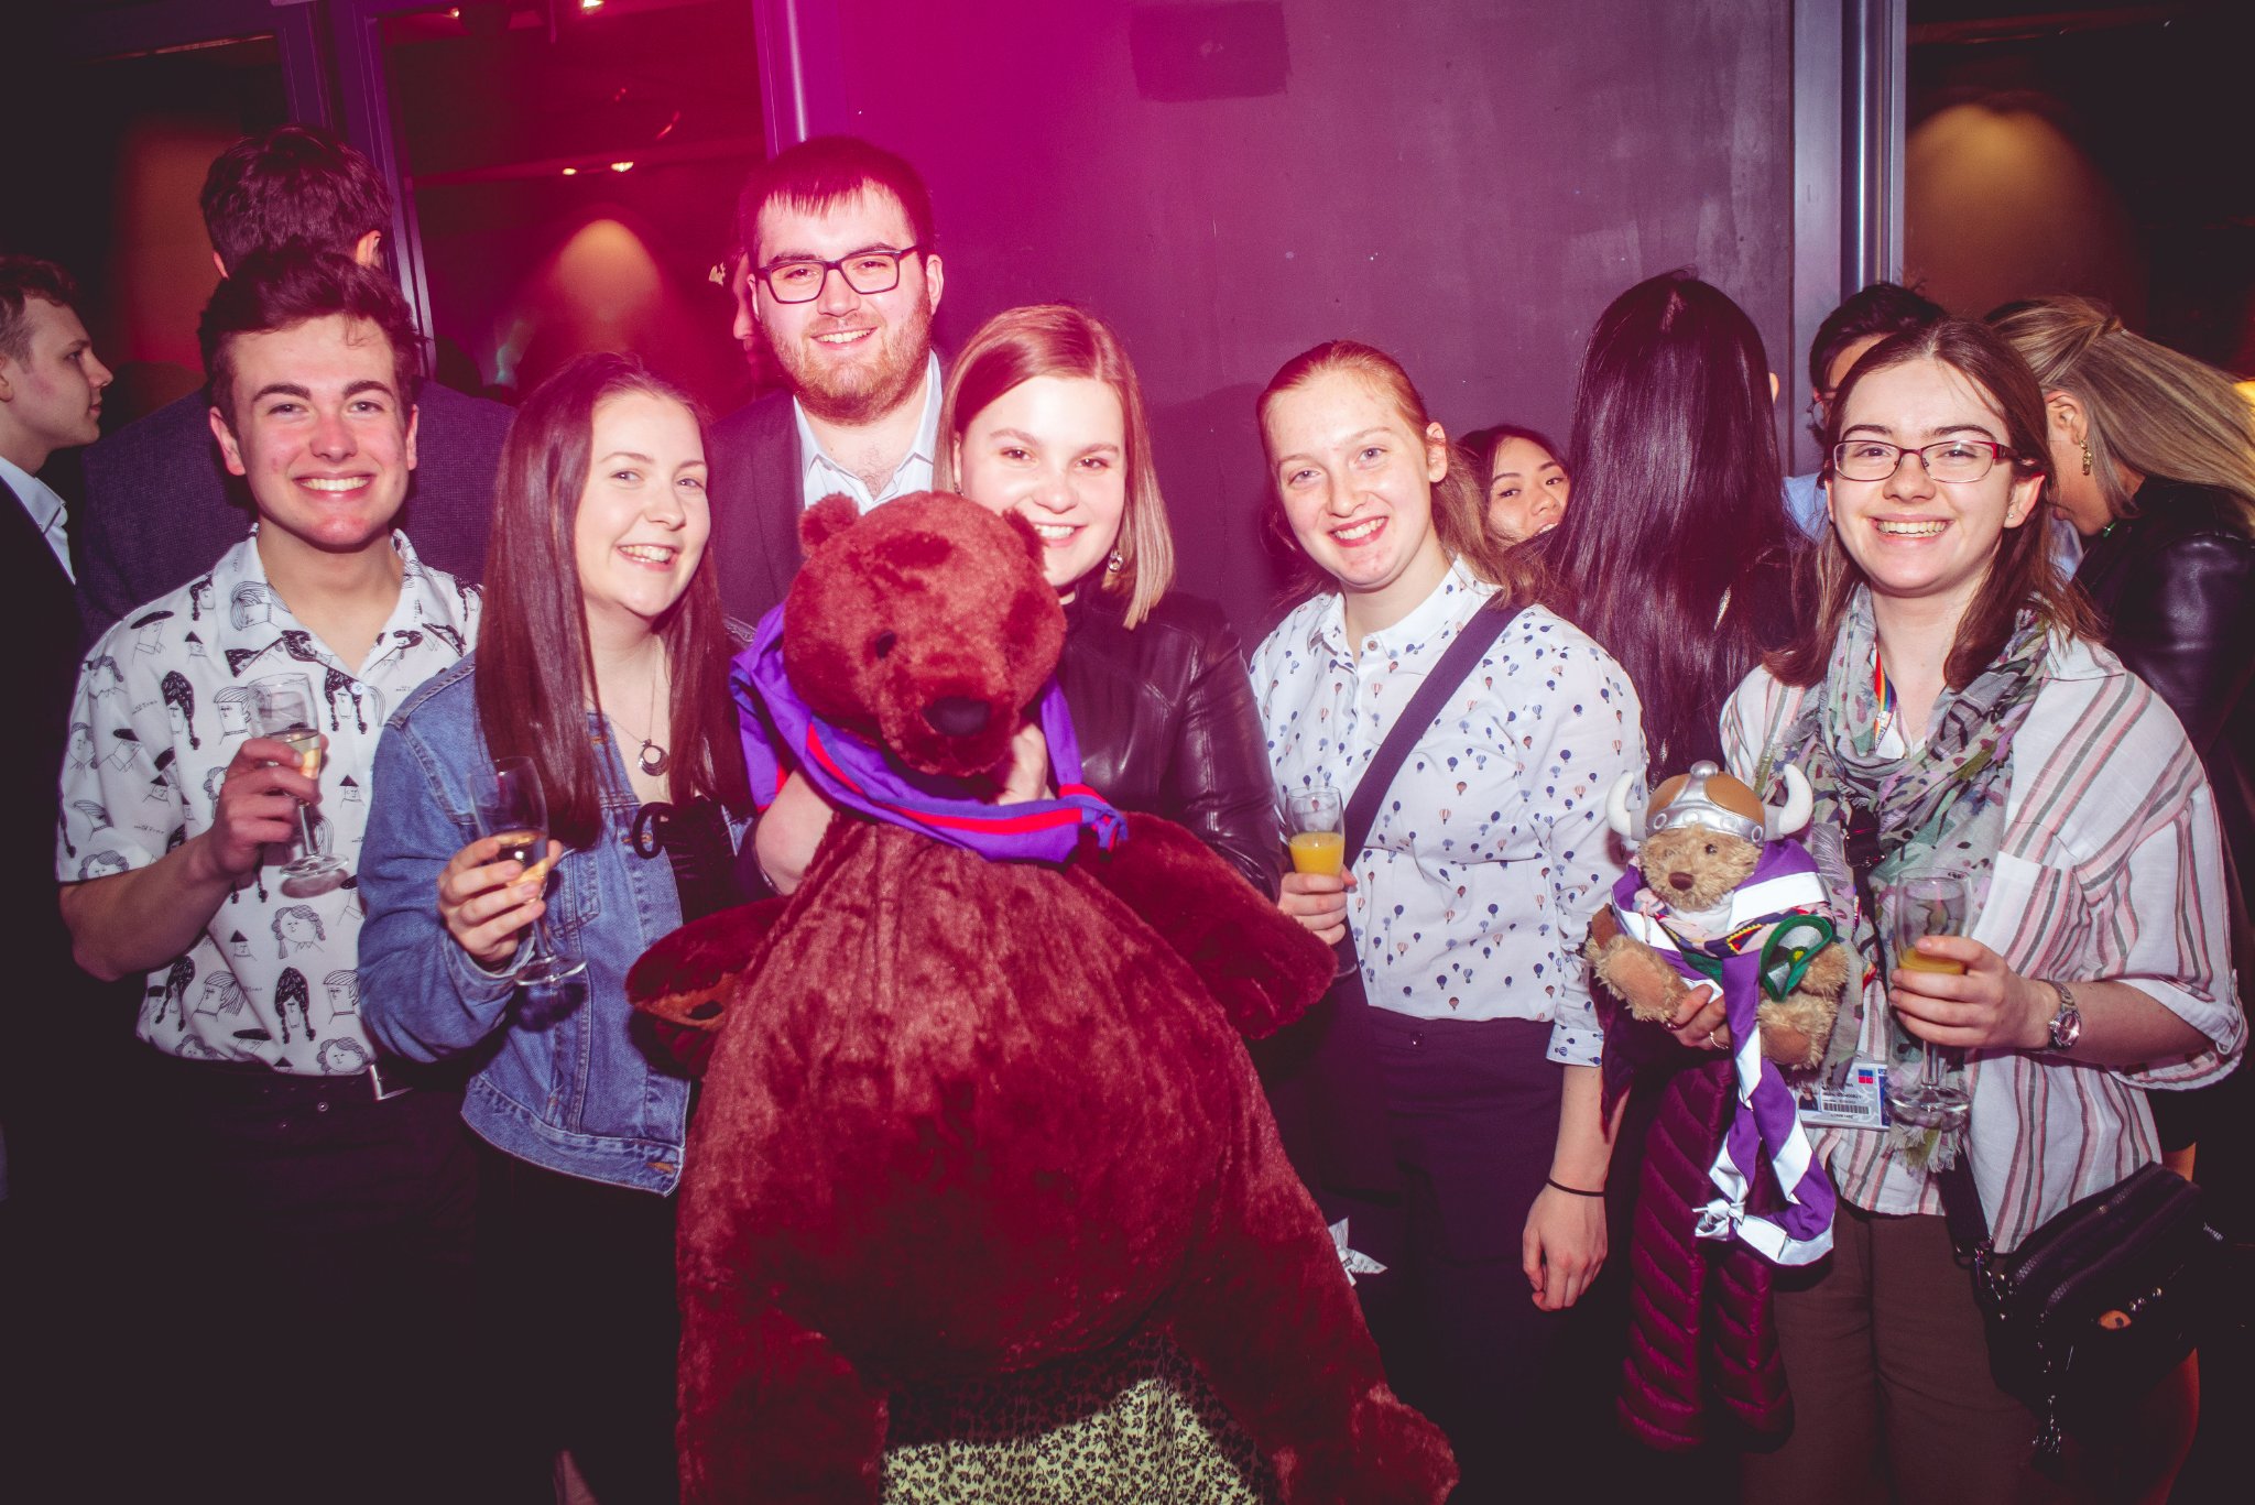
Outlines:
{"type": "Polygon", "coordinates": [[[1040,715],[1058,799],[1017,806],[972,799],[961,778],[918,774],[882,747],[814,715],[782,672],[782,607],[760,618],[751,648],[728,666],[728,688],[744,736],[751,799],[760,810],[776,803],[789,756],[789,767],[805,774],[830,803],[988,860],[1064,862],[1080,844],[1082,828],[1094,830],[1105,851],[1128,835],[1121,812],[1080,783],[1080,738],[1073,736],[1073,718],[1055,675],[1042,686],[1040,715]]]}

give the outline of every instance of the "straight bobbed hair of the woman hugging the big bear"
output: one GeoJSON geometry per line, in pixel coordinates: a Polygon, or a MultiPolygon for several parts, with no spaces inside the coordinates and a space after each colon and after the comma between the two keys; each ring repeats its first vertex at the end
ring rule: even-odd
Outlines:
{"type": "Polygon", "coordinates": [[[1003,309],[979,325],[979,332],[956,354],[940,397],[940,442],[931,458],[936,490],[956,490],[956,449],[972,420],[990,402],[1035,377],[1087,377],[1103,381],[1121,399],[1125,429],[1128,510],[1114,544],[1118,569],[1109,562],[1096,571],[1098,589],[1118,596],[1128,607],[1128,625],[1137,627],[1175,584],[1175,537],[1166,526],[1166,499],[1159,494],[1159,472],[1150,465],[1150,420],[1143,413],[1143,384],[1134,361],[1112,325],[1069,302],[1035,302],[1003,309]]]}

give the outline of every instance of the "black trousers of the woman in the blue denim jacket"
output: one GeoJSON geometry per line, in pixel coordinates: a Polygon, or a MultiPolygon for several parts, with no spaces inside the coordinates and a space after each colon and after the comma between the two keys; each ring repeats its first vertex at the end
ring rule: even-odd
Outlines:
{"type": "Polygon", "coordinates": [[[480,1146],[478,1266],[510,1498],[548,1500],[548,1460],[571,1449],[602,1505],[672,1505],[674,1200],[480,1146]]]}

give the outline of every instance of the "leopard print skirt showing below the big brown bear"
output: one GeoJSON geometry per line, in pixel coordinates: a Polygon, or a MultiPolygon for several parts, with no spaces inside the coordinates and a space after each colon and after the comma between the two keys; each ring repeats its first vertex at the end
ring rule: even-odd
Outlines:
{"type": "Polygon", "coordinates": [[[1272,1505],[1252,1437],[1164,1336],[895,1394],[886,1505],[1272,1505]]]}

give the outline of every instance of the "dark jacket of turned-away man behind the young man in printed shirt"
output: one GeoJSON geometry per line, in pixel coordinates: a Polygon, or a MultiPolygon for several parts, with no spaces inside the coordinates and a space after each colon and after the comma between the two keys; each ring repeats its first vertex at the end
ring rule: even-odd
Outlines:
{"type": "MultiPolygon", "coordinates": [[[[456,580],[485,575],[494,474],[510,408],[424,381],[415,399],[415,478],[399,526],[415,555],[456,580]]],[[[212,569],[257,512],[212,440],[210,402],[189,393],[86,451],[79,609],[88,634],[212,569]]]]}

